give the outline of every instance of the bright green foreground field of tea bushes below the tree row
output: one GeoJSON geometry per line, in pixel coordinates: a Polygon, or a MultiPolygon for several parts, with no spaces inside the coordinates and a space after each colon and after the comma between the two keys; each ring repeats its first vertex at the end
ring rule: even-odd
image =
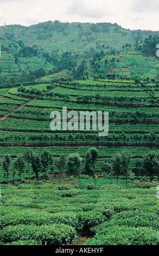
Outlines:
{"type": "Polygon", "coordinates": [[[90,182],[2,185],[1,245],[159,244],[157,183],[90,182]]]}

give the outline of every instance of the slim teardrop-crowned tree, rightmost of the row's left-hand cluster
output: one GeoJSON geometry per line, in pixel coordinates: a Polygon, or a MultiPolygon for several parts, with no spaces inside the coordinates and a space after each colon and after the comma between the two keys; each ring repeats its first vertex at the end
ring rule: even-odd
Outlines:
{"type": "Polygon", "coordinates": [[[44,179],[47,180],[47,172],[50,164],[52,164],[53,158],[50,154],[49,150],[44,149],[41,154],[41,163],[42,163],[42,170],[44,173],[44,179]]]}

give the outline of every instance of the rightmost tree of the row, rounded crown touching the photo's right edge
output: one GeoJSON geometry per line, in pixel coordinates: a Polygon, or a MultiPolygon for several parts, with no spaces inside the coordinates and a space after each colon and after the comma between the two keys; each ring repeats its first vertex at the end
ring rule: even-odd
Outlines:
{"type": "Polygon", "coordinates": [[[153,176],[159,172],[159,154],[155,151],[150,151],[143,157],[143,168],[150,177],[150,182],[153,180],[153,176]]]}

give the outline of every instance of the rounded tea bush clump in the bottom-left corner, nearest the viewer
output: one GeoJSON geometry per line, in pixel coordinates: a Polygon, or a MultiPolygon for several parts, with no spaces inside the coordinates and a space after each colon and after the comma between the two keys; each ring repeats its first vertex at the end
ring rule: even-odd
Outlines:
{"type": "Polygon", "coordinates": [[[35,240],[42,245],[66,245],[72,242],[75,230],[65,224],[42,225],[16,225],[4,228],[0,233],[3,243],[17,240],[35,240]]]}

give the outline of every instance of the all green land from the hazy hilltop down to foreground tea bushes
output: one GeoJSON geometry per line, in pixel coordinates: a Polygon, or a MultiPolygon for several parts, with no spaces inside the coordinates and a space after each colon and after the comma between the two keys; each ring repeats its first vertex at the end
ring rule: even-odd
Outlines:
{"type": "Polygon", "coordinates": [[[1,27],[1,245],[159,245],[158,35],[1,27]],[[109,134],[92,116],[88,131],[51,130],[62,107],[108,111],[109,134]]]}

